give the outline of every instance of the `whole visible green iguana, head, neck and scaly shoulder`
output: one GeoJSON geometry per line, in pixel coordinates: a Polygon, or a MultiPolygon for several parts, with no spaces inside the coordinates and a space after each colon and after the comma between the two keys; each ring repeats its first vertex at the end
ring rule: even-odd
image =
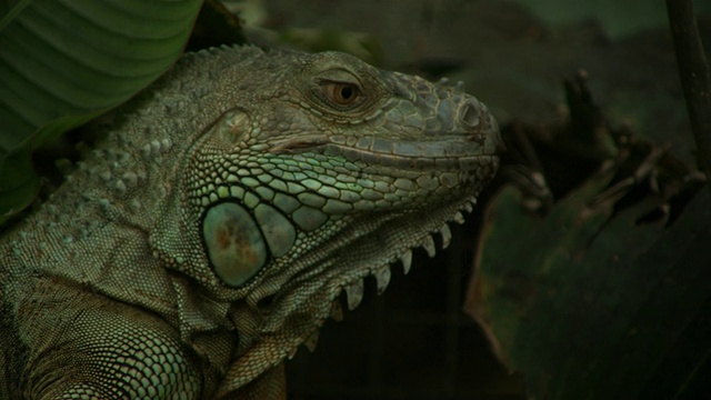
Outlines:
{"type": "Polygon", "coordinates": [[[0,243],[0,398],[283,398],[340,293],[447,244],[497,169],[461,86],[347,54],[186,56],[0,243]]]}

